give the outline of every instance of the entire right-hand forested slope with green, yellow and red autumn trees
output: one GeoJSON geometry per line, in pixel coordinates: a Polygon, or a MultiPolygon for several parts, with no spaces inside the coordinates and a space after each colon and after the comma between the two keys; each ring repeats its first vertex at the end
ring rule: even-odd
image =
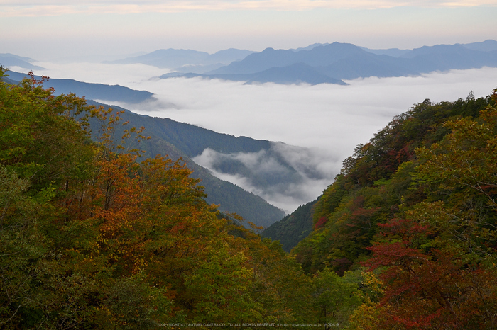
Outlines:
{"type": "Polygon", "coordinates": [[[356,147],[292,250],[308,273],[366,267],[361,329],[497,326],[497,90],[415,104],[356,147]]]}

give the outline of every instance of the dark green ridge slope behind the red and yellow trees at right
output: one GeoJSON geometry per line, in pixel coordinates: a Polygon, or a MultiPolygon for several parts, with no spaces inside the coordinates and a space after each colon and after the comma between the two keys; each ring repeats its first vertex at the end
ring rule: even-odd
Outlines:
{"type": "Polygon", "coordinates": [[[439,142],[449,132],[444,125],[447,120],[476,118],[489,102],[471,95],[437,104],[425,100],[395,117],[370,142],[359,144],[316,203],[315,230],[293,251],[297,260],[307,271],[328,265],[343,273],[368,256],[376,224],[427,197],[424,187],[410,176],[416,166],[416,148],[439,142]],[[330,253],[315,254],[315,250],[330,253]]]}

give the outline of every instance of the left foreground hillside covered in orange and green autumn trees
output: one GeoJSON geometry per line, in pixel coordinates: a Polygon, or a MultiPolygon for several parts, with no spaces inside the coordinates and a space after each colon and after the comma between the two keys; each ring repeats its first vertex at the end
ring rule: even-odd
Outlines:
{"type": "Polygon", "coordinates": [[[354,292],[340,309],[366,299],[207,204],[180,159],[138,162],[129,146],[146,137],[119,115],[35,79],[0,82],[2,329],[324,324],[334,284],[354,292]]]}

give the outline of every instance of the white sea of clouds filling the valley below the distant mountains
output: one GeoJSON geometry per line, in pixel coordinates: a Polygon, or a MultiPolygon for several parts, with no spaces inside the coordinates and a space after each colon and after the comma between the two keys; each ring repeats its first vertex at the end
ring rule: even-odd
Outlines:
{"type": "MultiPolygon", "coordinates": [[[[287,212],[317,198],[332,183],[342,161],[353,153],[357,144],[368,142],[395,115],[404,113],[414,103],[426,98],[432,102],[455,101],[466,98],[470,91],[478,98],[490,94],[497,85],[496,68],[355,79],[346,81],[349,86],[310,86],[245,85],[200,78],[157,79],[167,70],[143,64],[36,64],[47,69],[35,74],[120,84],[154,93],[153,102],[138,105],[112,102],[136,113],[171,118],[235,136],[283,142],[273,147],[302,174],[302,180],[294,185],[261,190],[249,178],[212,171],[287,212]]],[[[278,169],[278,164],[271,168],[271,159],[264,164],[266,167],[261,167],[258,154],[226,156],[205,151],[195,160],[209,168],[216,157],[237,157],[246,166],[253,166],[254,171],[278,169]]]]}

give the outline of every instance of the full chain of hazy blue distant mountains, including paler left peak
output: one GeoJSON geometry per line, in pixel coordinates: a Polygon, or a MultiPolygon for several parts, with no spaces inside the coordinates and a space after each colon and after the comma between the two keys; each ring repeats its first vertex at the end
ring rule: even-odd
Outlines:
{"type": "Polygon", "coordinates": [[[178,67],[160,79],[202,77],[246,81],[246,84],[346,84],[369,76],[417,76],[450,69],[497,67],[497,41],[423,46],[413,50],[373,50],[349,43],[313,44],[291,50],[262,52],[224,50],[209,55],[195,50],[158,50],[114,61],[178,67]],[[239,57],[239,59],[234,59],[239,57]],[[222,60],[227,65],[220,65],[222,60]],[[214,63],[215,62],[215,63],[214,63]]]}

